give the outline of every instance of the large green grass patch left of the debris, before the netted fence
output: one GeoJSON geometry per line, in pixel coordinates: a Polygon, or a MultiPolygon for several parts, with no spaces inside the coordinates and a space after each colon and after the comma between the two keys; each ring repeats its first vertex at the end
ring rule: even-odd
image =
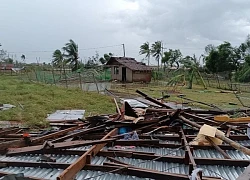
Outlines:
{"type": "Polygon", "coordinates": [[[61,109],[85,109],[86,115],[115,112],[115,105],[108,96],[80,89],[24,82],[11,76],[0,76],[0,103],[16,106],[0,111],[0,120],[21,121],[32,127],[46,127],[47,114],[61,109]]]}

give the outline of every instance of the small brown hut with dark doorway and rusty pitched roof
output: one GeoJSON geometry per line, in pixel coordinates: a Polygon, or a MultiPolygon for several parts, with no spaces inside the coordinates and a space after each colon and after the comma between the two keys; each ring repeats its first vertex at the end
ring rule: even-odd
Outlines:
{"type": "Polygon", "coordinates": [[[152,69],[134,58],[111,57],[106,66],[111,67],[111,79],[121,82],[150,82],[152,69]]]}

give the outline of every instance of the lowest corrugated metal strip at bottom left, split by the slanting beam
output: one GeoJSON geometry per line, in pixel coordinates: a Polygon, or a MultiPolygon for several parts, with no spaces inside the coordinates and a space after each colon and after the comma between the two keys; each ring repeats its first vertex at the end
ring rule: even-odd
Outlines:
{"type": "MultiPolygon", "coordinates": [[[[0,171],[13,173],[13,174],[24,173],[24,176],[32,176],[32,177],[37,177],[37,178],[55,180],[56,177],[63,170],[62,169],[33,168],[33,167],[7,167],[7,168],[0,169],[0,171]]],[[[134,176],[127,176],[127,175],[120,175],[120,174],[113,174],[113,173],[105,173],[104,175],[102,174],[104,174],[104,172],[83,170],[83,171],[80,171],[76,175],[76,179],[82,180],[82,179],[86,179],[90,177],[95,177],[93,179],[99,179],[99,180],[117,180],[117,179],[119,180],[121,179],[141,180],[142,179],[142,178],[138,178],[134,176]]]]}

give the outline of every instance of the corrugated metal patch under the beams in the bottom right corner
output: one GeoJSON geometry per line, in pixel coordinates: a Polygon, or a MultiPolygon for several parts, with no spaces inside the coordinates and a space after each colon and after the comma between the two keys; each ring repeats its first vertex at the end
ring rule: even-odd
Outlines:
{"type": "Polygon", "coordinates": [[[203,169],[204,176],[221,177],[222,179],[235,180],[245,170],[244,167],[234,166],[211,166],[211,165],[198,165],[203,169]]]}

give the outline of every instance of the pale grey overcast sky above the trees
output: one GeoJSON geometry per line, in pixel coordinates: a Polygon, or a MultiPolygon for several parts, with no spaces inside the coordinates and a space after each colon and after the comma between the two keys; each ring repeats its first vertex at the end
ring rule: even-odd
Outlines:
{"type": "Polygon", "coordinates": [[[2,48],[27,62],[50,62],[69,39],[83,61],[95,51],[123,56],[123,43],[140,61],[146,41],[200,55],[207,44],[236,46],[250,33],[250,0],[1,0],[0,12],[2,48]]]}

